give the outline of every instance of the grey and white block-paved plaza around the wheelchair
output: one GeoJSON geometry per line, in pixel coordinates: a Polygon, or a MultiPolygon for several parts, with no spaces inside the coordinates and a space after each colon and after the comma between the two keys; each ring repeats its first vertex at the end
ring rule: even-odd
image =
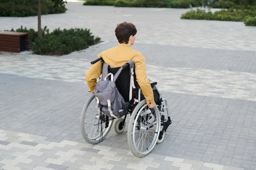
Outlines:
{"type": "MultiPolygon", "coordinates": [[[[180,20],[189,9],[87,7],[43,15],[50,30],[89,28],[104,41],[54,57],[0,52],[0,168],[3,170],[255,170],[256,28],[242,22],[180,20]],[[117,23],[133,22],[134,49],[168,99],[173,124],[162,144],[134,157],[122,134],[83,139],[84,73],[117,45],[117,23]]],[[[37,17],[0,18],[0,30],[37,28],[37,17]]]]}

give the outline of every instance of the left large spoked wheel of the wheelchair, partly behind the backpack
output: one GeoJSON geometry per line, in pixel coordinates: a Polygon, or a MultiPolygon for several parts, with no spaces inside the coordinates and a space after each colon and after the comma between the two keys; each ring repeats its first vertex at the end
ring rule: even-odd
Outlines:
{"type": "Polygon", "coordinates": [[[95,107],[96,102],[94,98],[95,96],[93,94],[85,103],[80,118],[83,138],[90,144],[97,144],[103,140],[108,135],[113,124],[113,119],[109,118],[109,125],[106,128],[106,116],[100,116],[98,108],[95,107]]]}

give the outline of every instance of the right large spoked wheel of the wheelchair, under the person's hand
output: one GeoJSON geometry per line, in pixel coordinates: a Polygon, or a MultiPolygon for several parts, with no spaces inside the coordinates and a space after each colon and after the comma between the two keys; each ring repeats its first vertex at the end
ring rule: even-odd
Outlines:
{"type": "Polygon", "coordinates": [[[136,157],[144,157],[154,148],[160,131],[160,114],[157,106],[149,109],[146,100],[137,104],[128,126],[128,145],[136,157]]]}

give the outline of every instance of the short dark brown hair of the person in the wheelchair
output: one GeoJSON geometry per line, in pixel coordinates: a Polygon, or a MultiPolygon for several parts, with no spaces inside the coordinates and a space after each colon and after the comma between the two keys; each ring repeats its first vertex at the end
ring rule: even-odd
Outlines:
{"type": "Polygon", "coordinates": [[[134,36],[137,33],[137,29],[132,23],[122,22],[120,24],[117,24],[115,32],[119,43],[128,44],[130,35],[134,36]]]}

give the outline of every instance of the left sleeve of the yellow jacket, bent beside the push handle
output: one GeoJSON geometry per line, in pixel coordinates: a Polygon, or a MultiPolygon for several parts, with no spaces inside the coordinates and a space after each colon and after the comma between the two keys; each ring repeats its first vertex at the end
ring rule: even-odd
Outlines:
{"type": "Polygon", "coordinates": [[[101,75],[101,61],[92,64],[89,70],[85,73],[85,78],[87,85],[89,87],[89,92],[94,93],[94,88],[97,84],[97,78],[101,75]]]}

